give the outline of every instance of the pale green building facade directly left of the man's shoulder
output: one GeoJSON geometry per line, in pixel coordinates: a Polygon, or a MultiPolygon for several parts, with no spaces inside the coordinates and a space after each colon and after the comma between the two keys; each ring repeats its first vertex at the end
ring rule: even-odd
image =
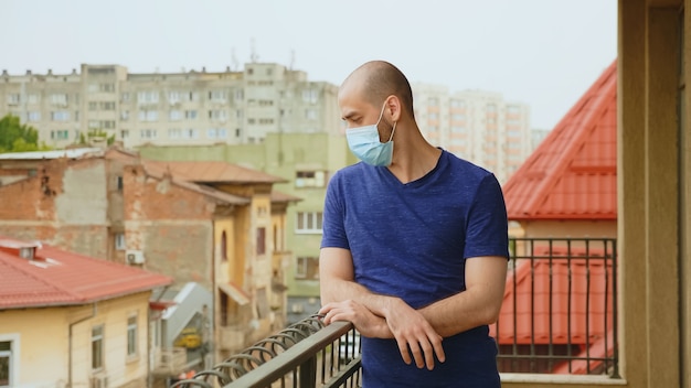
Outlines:
{"type": "Polygon", "coordinates": [[[209,147],[141,147],[152,160],[215,160],[242,163],[279,176],[275,188],[300,198],[286,212],[286,247],[291,255],[284,268],[287,320],[295,323],[316,313],[319,301],[319,246],[323,198],[329,177],[357,162],[346,138],[331,133],[269,133],[263,144],[209,147]]]}

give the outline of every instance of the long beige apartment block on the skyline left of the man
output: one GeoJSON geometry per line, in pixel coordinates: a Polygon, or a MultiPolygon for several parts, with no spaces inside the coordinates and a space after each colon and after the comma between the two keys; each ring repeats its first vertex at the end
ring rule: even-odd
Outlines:
{"type": "Polygon", "coordinates": [[[337,130],[337,90],[270,63],[166,74],[83,64],[71,74],[3,71],[0,117],[20,117],[55,148],[96,133],[126,148],[262,143],[269,132],[337,130]]]}

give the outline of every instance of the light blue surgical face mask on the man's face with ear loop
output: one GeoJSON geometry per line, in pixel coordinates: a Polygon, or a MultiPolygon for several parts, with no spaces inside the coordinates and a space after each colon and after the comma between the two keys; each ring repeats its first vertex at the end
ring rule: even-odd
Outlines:
{"type": "Polygon", "coordinates": [[[348,139],[348,147],[352,153],[361,161],[378,166],[387,166],[393,159],[393,132],[396,130],[396,122],[393,123],[391,130],[391,138],[385,143],[379,141],[379,130],[376,127],[384,116],[384,108],[379,115],[379,120],[375,125],[364,126],[346,130],[346,138],[348,139]]]}

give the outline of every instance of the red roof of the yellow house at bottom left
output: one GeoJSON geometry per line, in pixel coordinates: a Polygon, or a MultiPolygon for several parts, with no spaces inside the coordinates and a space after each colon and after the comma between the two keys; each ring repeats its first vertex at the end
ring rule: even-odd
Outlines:
{"type": "Polygon", "coordinates": [[[25,241],[0,236],[0,310],[74,305],[172,283],[162,274],[42,245],[35,259],[11,248],[25,241]]]}

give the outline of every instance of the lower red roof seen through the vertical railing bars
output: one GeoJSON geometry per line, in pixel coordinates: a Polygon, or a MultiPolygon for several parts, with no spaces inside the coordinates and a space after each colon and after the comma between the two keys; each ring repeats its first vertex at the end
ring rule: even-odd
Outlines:
{"type": "Polygon", "coordinates": [[[585,345],[603,338],[613,327],[612,260],[605,268],[593,254],[588,260],[553,254],[551,268],[550,259],[519,260],[507,277],[498,324],[490,326],[498,343],[585,345]]]}

